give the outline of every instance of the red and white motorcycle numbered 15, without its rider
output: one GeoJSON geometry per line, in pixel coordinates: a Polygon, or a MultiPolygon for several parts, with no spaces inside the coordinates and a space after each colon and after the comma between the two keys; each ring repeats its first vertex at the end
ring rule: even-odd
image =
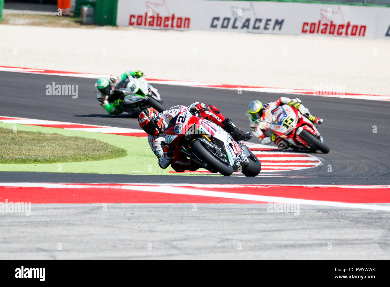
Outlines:
{"type": "Polygon", "coordinates": [[[289,105],[273,110],[269,125],[271,130],[287,141],[293,149],[313,152],[319,150],[323,153],[330,151],[313,123],[289,105]]]}

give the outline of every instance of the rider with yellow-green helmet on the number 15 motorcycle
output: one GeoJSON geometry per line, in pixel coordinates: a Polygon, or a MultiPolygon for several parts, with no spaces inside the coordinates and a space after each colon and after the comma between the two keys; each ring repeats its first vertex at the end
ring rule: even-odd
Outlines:
{"type": "Polygon", "coordinates": [[[272,121],[272,111],[278,106],[289,105],[294,109],[300,111],[300,113],[307,117],[312,123],[319,125],[323,123],[323,119],[312,116],[309,110],[302,105],[301,100],[298,98],[290,99],[287,97],[280,97],[275,102],[262,104],[259,100],[249,103],[248,112],[250,120],[250,129],[252,133],[257,137],[262,144],[275,143],[279,150],[285,150],[290,145],[281,137],[274,134],[270,129],[269,123],[272,121]]]}

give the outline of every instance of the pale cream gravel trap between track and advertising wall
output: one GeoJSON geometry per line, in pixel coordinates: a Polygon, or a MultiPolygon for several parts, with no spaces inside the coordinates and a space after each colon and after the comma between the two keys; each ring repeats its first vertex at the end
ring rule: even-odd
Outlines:
{"type": "Polygon", "coordinates": [[[0,25],[0,65],[149,78],[390,94],[390,41],[133,27],[0,25]],[[28,43],[28,45],[26,45],[28,43]]]}

